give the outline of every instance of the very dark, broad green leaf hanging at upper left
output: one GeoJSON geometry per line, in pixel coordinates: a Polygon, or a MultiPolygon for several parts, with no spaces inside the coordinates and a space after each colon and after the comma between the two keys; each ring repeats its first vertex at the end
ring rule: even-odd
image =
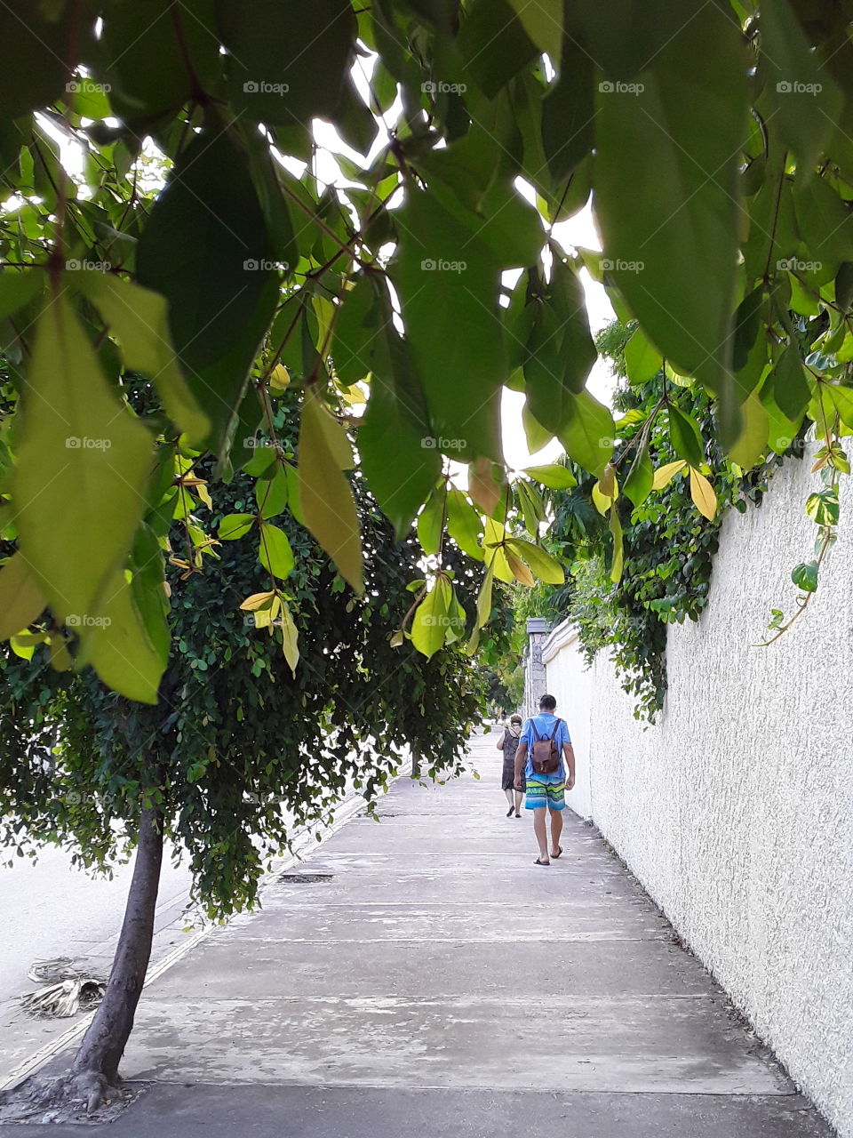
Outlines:
{"type": "Polygon", "coordinates": [[[272,265],[246,156],[225,131],[202,131],[179,155],[151,209],[136,267],[139,282],[168,303],[172,343],[217,438],[245,390],[248,364],[235,363],[245,358],[246,337],[254,356],[266,331],[270,287],[278,282],[272,265]]]}

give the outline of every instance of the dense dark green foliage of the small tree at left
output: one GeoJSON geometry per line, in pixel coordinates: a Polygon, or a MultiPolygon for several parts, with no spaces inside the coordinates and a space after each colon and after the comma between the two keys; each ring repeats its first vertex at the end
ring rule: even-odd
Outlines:
{"type": "MultiPolygon", "coordinates": [[[[284,403],[276,426],[287,448],[295,421],[284,403]]],[[[196,468],[196,492],[204,472],[196,468]]],[[[367,550],[362,599],[303,526],[283,521],[296,555],[287,586],[301,653],[295,670],[268,634],[278,629],[240,609],[268,578],[257,551],[223,541],[188,572],[183,517],[162,521],[174,551],[174,649],[156,706],[118,695],[91,670],[57,673],[44,644],[28,646],[31,659],[7,651],[0,842],[10,852],[63,841],[80,861],[107,866],[117,848],[132,848],[140,810],[156,803],[164,833],[189,856],[197,897],[223,915],[254,900],[267,857],[325,820],[348,787],[381,793],[409,747],[424,774],[459,768],[482,708],[479,679],[459,653],[426,660],[390,648],[420,546],[411,535],[395,541],[361,480],[355,489],[367,550]]],[[[212,523],[256,510],[255,483],[241,475],[217,495],[212,523]]],[[[194,498],[190,525],[206,513],[194,498]]],[[[481,568],[454,556],[475,587],[481,568]]]]}

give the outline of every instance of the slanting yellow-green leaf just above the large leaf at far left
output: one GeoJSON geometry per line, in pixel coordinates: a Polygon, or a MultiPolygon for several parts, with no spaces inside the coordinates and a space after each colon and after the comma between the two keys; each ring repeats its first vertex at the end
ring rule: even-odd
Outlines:
{"type": "Polygon", "coordinates": [[[172,421],[190,443],[202,443],[210,423],[177,365],[165,299],[111,273],[81,272],[69,279],[118,337],[125,368],[150,376],[172,421]]]}

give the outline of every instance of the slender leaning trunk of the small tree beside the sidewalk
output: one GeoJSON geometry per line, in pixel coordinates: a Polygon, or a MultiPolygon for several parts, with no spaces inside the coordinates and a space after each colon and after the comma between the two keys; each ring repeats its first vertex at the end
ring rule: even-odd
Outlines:
{"type": "Polygon", "coordinates": [[[69,1082],[84,1094],[90,1113],[118,1081],[118,1064],[133,1028],[151,955],[162,863],[163,815],[157,809],[142,810],[133,880],[109,981],[69,1073],[69,1082]]]}

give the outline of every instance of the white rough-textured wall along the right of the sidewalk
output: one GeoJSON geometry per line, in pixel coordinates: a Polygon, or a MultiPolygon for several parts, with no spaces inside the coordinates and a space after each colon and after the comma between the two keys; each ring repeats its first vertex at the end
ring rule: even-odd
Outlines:
{"type": "MultiPolygon", "coordinates": [[[[759,509],[726,519],[710,603],[670,626],[659,723],[633,719],[613,668],[578,682],[571,642],[548,683],[588,717],[591,814],[792,1077],[853,1138],[853,494],[809,611],[790,570],[812,556],[818,488],[793,461],[759,509]]],[[[847,481],[843,479],[843,481],[847,481]]],[[[555,629],[550,646],[565,630],[555,629]]],[[[546,655],[549,645],[546,645],[546,655]]]]}

